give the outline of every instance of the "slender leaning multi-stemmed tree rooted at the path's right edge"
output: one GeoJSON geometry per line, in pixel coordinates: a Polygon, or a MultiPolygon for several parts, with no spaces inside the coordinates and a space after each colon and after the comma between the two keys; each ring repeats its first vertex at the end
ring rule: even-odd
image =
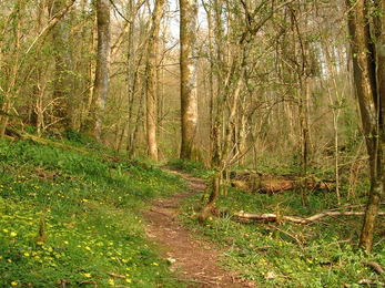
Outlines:
{"type": "Polygon", "coordinates": [[[232,1],[213,1],[212,10],[206,9],[207,19],[214,21],[209,25],[210,68],[215,71],[210,72],[215,75],[210,79],[211,96],[214,97],[213,85],[216,85],[217,91],[216,99],[212,99],[210,104],[213,119],[211,164],[215,173],[211,181],[209,202],[201,214],[201,219],[207,217],[214,206],[224,172],[246,154],[244,142],[253,125],[246,123],[246,119],[251,119],[256,109],[246,109],[245,102],[257,92],[255,90],[252,91],[255,81],[259,81],[256,62],[261,61],[259,52],[263,51],[259,32],[286,4],[286,2],[277,6],[270,6],[267,2],[255,4],[250,1],[241,3],[242,6],[232,1]]]}

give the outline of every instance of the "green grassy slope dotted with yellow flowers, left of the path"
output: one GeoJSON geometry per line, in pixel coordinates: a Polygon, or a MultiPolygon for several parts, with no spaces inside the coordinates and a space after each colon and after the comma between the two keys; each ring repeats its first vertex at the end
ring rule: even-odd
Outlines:
{"type": "Polygon", "coordinates": [[[0,161],[0,287],[181,287],[139,216],[180,178],[30,141],[1,141],[0,161]]]}

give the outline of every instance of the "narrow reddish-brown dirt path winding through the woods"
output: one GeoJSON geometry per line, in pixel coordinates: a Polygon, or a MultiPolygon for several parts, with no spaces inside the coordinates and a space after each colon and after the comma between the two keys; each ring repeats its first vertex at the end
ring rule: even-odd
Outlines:
{"type": "Polygon", "coordinates": [[[186,282],[189,287],[251,287],[216,266],[219,251],[209,243],[193,239],[192,232],[178,222],[175,216],[180,202],[205,189],[205,183],[202,179],[186,174],[182,176],[190,182],[189,192],[155,200],[151,209],[144,212],[149,220],[148,236],[162,248],[164,258],[172,263],[172,269],[181,271],[180,280],[186,282]]]}

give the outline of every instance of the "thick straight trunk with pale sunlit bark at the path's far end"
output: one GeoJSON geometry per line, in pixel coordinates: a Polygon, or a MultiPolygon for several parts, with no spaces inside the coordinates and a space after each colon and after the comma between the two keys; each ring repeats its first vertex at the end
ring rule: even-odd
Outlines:
{"type": "Polygon", "coordinates": [[[180,8],[181,158],[192,160],[197,133],[196,58],[194,49],[197,18],[196,0],[180,0],[180,8]]]}

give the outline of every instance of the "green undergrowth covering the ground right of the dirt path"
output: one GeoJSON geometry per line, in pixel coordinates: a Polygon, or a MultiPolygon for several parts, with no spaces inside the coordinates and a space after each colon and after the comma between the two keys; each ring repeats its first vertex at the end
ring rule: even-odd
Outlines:
{"type": "MultiPolygon", "coordinates": [[[[202,195],[193,195],[184,203],[181,216],[195,235],[214,241],[223,251],[221,265],[239,271],[255,287],[383,287],[385,279],[365,266],[362,259],[385,266],[384,219],[377,223],[372,255],[358,248],[362,217],[330,217],[301,225],[288,222],[240,222],[234,216],[244,210],[254,214],[276,213],[307,217],[321,210],[337,209],[333,193],[310,195],[310,206],[301,206],[295,192],[273,195],[251,194],[230,189],[216,202],[220,215],[199,225],[196,215],[203,205],[202,195]]],[[[362,198],[364,202],[365,198],[362,198]]],[[[352,207],[347,203],[343,209],[352,207]]]]}

